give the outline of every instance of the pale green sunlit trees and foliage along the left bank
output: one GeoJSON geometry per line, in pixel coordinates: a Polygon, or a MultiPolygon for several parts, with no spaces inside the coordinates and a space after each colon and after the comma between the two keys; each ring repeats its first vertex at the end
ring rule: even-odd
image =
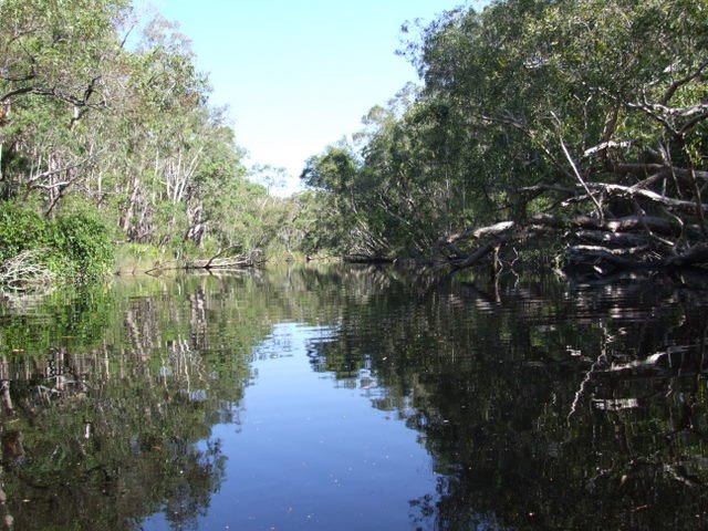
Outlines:
{"type": "Polygon", "coordinates": [[[94,275],[108,260],[104,225],[168,259],[277,239],[280,209],[246,180],[226,110],[209,104],[176,24],[156,17],[128,39],[129,0],[6,0],[0,20],[0,211],[32,196],[46,222],[60,212],[51,237],[3,235],[6,258],[48,243],[79,264],[72,273],[94,275]],[[76,204],[90,218],[61,214],[76,204]]]}

